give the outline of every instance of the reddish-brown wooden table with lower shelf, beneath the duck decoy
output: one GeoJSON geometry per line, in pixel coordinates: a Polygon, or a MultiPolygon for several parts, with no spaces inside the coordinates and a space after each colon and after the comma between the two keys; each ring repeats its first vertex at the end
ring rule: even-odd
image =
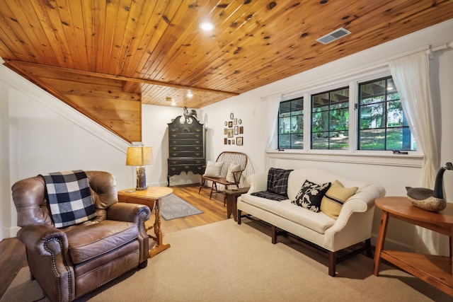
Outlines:
{"type": "Polygon", "coordinates": [[[374,254],[374,275],[379,275],[379,264],[384,259],[453,296],[453,204],[447,203],[447,208],[442,211],[430,212],[413,206],[406,197],[382,197],[375,203],[382,209],[382,216],[374,254]],[[449,257],[384,250],[389,217],[449,236],[449,257]]]}

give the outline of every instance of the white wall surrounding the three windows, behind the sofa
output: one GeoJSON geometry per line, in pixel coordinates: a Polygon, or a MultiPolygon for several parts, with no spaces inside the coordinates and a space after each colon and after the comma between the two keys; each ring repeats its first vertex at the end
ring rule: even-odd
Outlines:
{"type": "MultiPolygon", "coordinates": [[[[282,93],[283,98],[300,96],[303,93],[321,92],[323,89],[338,88],[347,85],[351,79],[360,80],[372,74],[389,74],[389,59],[401,57],[419,50],[428,49],[428,45],[437,47],[453,41],[453,19],[417,33],[386,42],[358,54],[353,54],[335,62],[319,66],[302,74],[271,83],[220,103],[202,108],[202,114],[209,117],[210,151],[212,160],[224,149],[244,151],[252,159],[255,169],[263,171],[270,166],[279,168],[299,168],[317,166],[350,178],[357,178],[383,185],[386,196],[405,196],[405,186],[420,185],[421,158],[409,156],[408,159],[389,154],[388,158],[376,158],[365,155],[343,154],[326,155],[323,152],[303,151],[288,152],[265,151],[265,100],[262,98],[282,93]],[[244,146],[224,146],[224,121],[229,120],[229,113],[241,116],[244,124],[244,146]],[[265,166],[268,156],[268,166],[265,166]]],[[[431,62],[432,85],[435,101],[442,106],[442,146],[441,164],[453,161],[453,50],[435,52],[431,62]]],[[[376,78],[374,78],[376,79],[376,78]]],[[[275,112],[277,115],[277,112],[275,112]]],[[[391,153],[391,152],[389,152],[391,153]]],[[[453,171],[445,173],[446,198],[453,202],[453,171]]],[[[376,236],[381,211],[375,211],[373,234],[376,236]]],[[[391,220],[387,235],[387,245],[399,245],[398,248],[413,249],[414,227],[401,221],[391,220]]]]}

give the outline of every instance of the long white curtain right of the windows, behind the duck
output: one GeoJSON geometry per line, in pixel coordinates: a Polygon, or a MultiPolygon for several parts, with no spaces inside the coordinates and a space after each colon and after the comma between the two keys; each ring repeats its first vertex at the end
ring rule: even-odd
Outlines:
{"type": "MultiPolygon", "coordinates": [[[[432,189],[440,168],[440,133],[436,133],[435,116],[430,91],[430,59],[428,53],[418,52],[389,63],[391,76],[401,98],[408,125],[417,141],[417,148],[425,155],[422,165],[421,187],[432,189]]],[[[444,254],[446,236],[426,228],[416,227],[415,251],[435,255],[444,254]]]]}

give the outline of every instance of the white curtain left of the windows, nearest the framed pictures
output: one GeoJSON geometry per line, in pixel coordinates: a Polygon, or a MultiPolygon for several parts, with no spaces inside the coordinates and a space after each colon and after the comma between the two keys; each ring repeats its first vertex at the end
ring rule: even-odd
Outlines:
{"type": "MultiPolygon", "coordinates": [[[[277,149],[277,125],[278,125],[278,108],[280,107],[280,100],[282,95],[280,93],[269,95],[262,100],[265,101],[265,151],[272,151],[277,149]]],[[[268,155],[264,155],[264,169],[268,169],[268,155]]]]}

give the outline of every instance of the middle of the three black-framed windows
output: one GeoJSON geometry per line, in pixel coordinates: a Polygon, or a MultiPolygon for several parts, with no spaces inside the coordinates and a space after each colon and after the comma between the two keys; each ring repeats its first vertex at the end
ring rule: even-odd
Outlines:
{"type": "Polygon", "coordinates": [[[311,149],[348,149],[349,88],[311,95],[311,149]]]}

